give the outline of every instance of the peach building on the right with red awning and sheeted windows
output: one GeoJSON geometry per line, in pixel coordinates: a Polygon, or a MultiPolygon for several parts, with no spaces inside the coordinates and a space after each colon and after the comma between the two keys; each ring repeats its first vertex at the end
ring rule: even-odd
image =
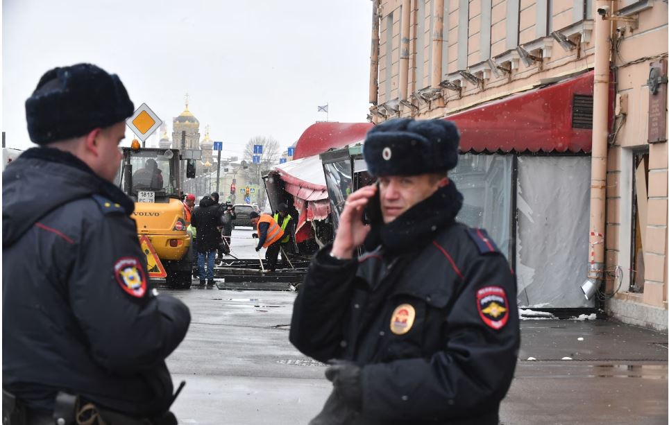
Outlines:
{"type": "Polygon", "coordinates": [[[459,220],[519,304],[666,331],[666,1],[372,3],[368,121],[457,123],[459,220]]]}

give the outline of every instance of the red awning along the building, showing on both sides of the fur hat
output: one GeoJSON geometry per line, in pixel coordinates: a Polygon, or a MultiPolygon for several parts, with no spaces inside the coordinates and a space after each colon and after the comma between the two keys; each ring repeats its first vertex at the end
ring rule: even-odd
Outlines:
{"type": "MultiPolygon", "coordinates": [[[[574,96],[593,95],[594,71],[455,112],[462,152],[590,152],[592,130],[573,128],[574,96]]],[[[613,83],[609,116],[613,116],[613,83]]],[[[303,132],[294,159],[362,141],[371,123],[315,123],[303,132]]]]}

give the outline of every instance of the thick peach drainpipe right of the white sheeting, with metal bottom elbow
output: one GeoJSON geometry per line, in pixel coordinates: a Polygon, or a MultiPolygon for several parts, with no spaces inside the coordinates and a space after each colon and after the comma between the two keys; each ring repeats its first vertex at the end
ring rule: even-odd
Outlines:
{"type": "Polygon", "coordinates": [[[588,279],[581,289],[591,300],[604,280],[604,234],[607,205],[607,148],[609,124],[609,62],[611,59],[611,21],[597,13],[611,8],[611,1],[596,0],[595,17],[595,84],[593,87],[593,146],[590,177],[590,232],[588,234],[588,279]]]}

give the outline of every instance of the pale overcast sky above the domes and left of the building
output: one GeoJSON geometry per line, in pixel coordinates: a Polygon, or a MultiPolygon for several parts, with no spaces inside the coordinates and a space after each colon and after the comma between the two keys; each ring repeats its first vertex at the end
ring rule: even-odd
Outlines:
{"type": "MultiPolygon", "coordinates": [[[[91,62],[117,73],[138,107],[168,123],[184,110],[241,155],[248,139],[282,148],[330,105],[330,121],[364,122],[370,0],[3,0],[2,130],[26,149],[24,102],[53,67],[91,62]]],[[[158,130],[148,144],[157,144],[158,130]],[[155,139],[154,139],[155,137],[155,139]]],[[[126,130],[126,142],[133,139],[126,130]]]]}

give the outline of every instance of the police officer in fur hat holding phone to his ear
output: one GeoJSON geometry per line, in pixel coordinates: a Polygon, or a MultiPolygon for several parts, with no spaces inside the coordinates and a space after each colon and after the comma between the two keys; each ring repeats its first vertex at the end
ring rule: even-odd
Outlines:
{"type": "Polygon", "coordinates": [[[458,142],[443,119],[367,133],[378,183],[348,197],[294,304],[290,340],[330,364],[333,385],[310,424],[498,424],[520,345],[516,280],[484,229],[455,220],[458,142]]]}

